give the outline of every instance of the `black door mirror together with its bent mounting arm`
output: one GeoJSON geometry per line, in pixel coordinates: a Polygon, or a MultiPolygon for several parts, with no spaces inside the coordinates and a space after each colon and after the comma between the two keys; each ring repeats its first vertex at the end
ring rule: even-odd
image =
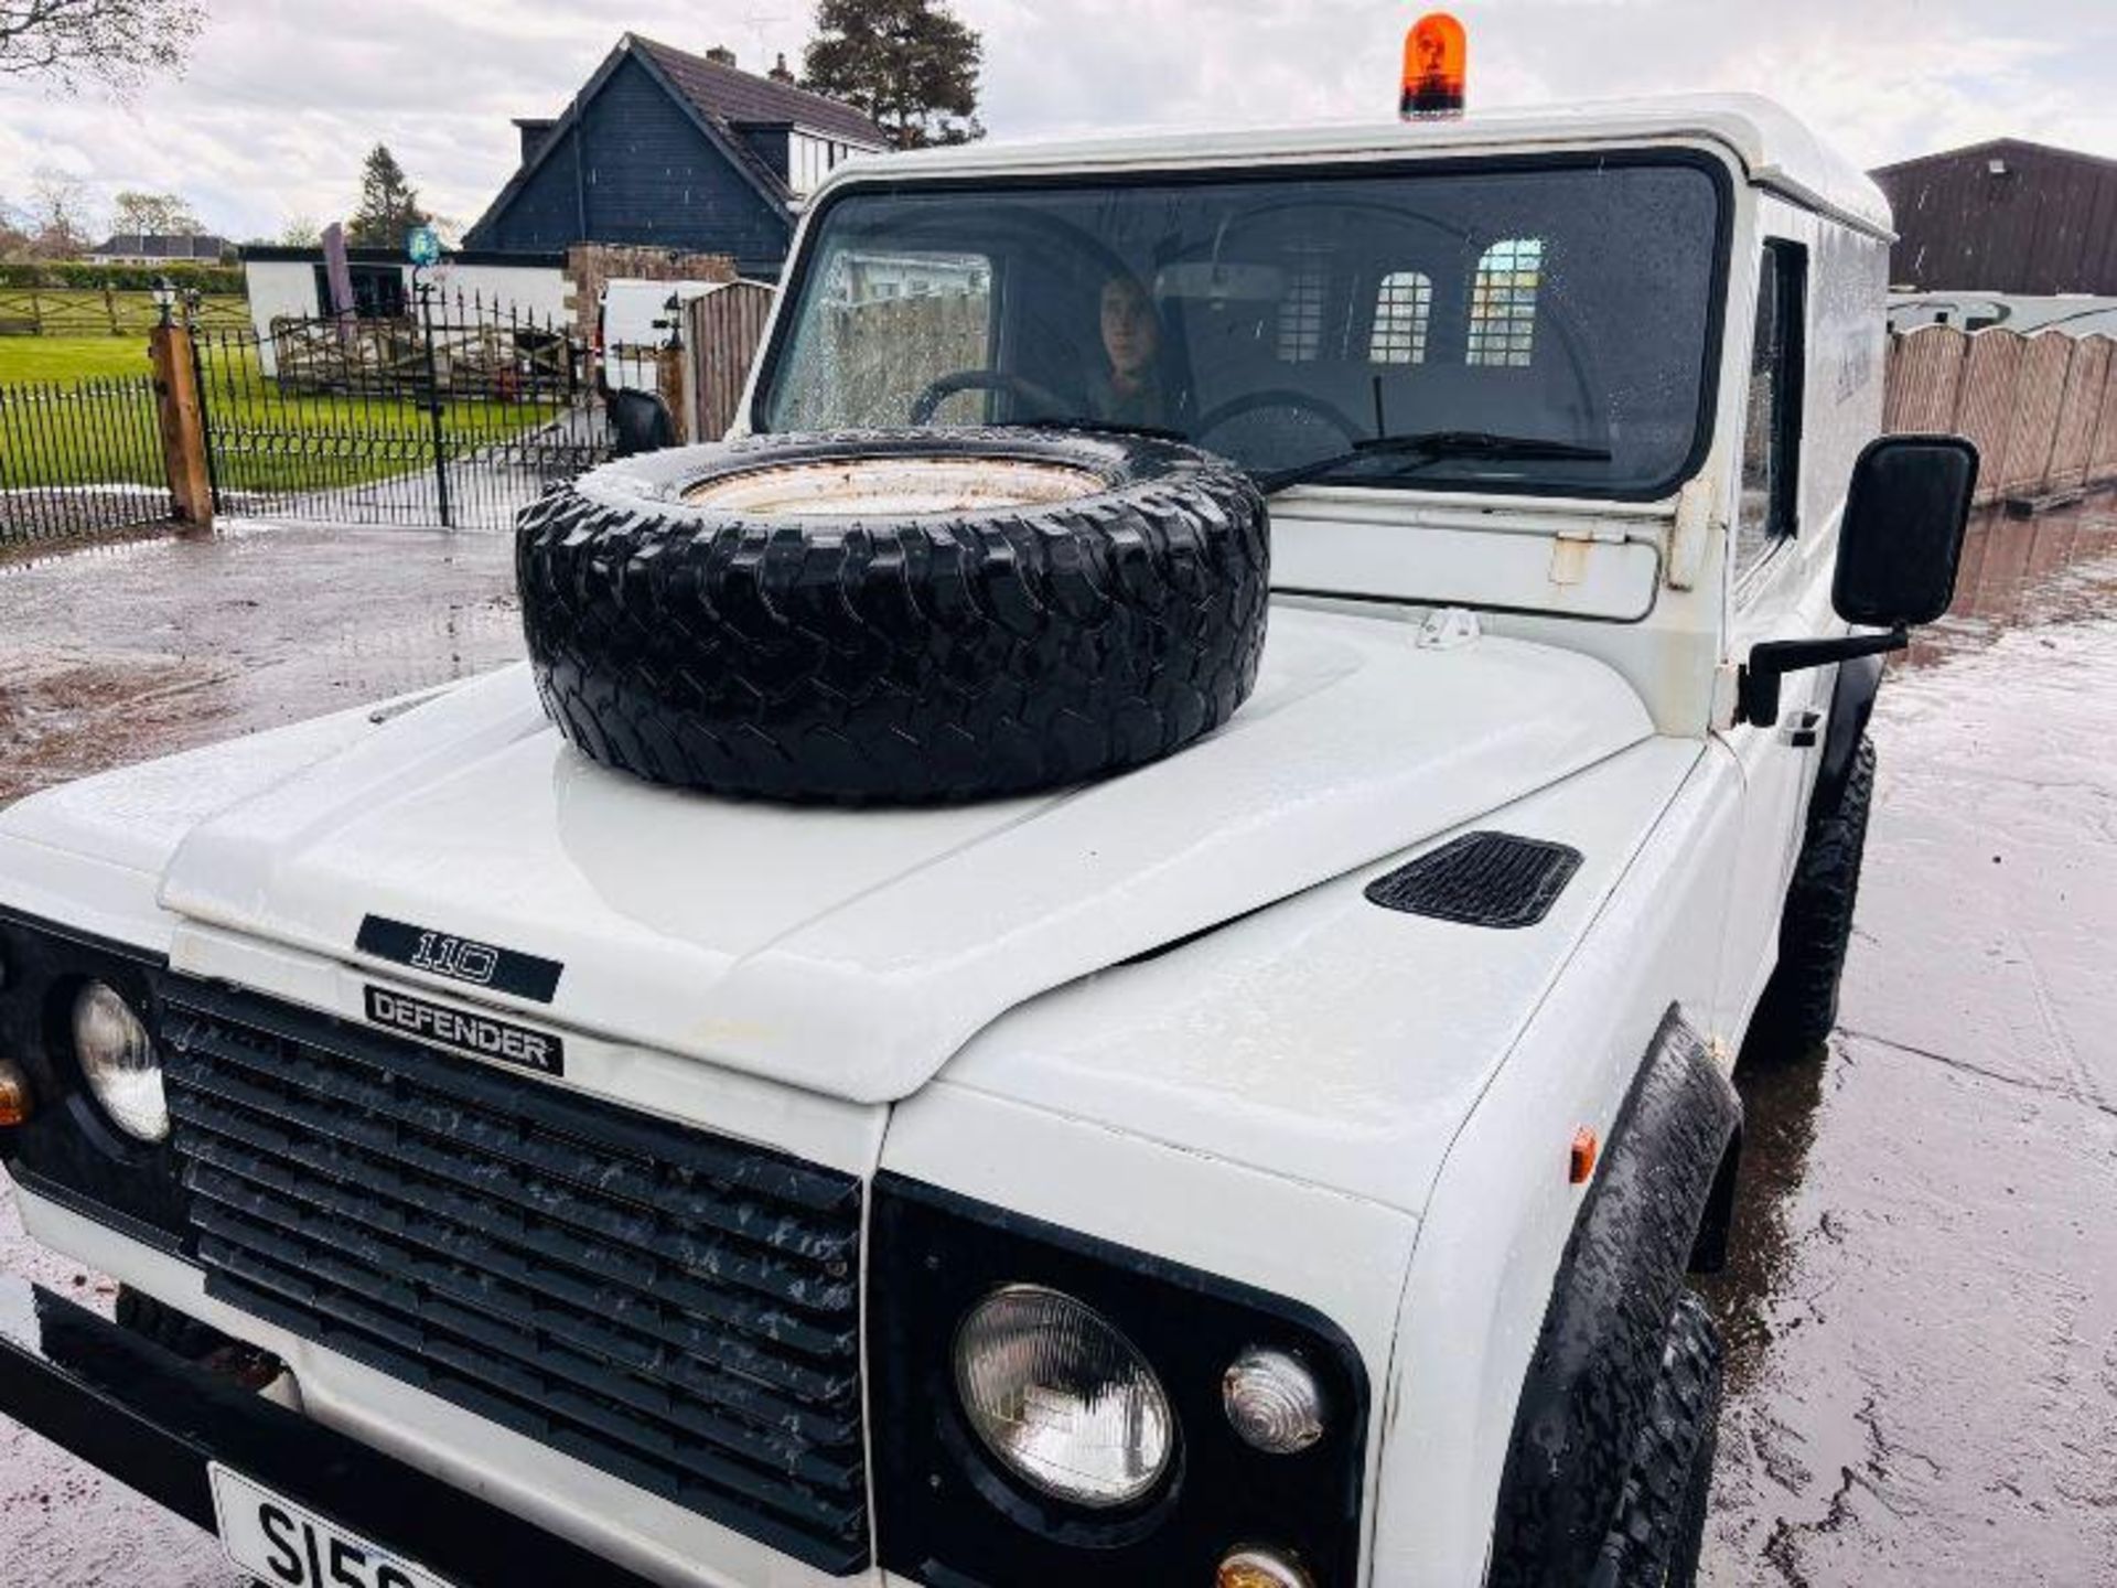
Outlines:
{"type": "Polygon", "coordinates": [[[1912,644],[1956,599],[1962,531],[1977,493],[1977,447],[1962,436],[1880,436],[1852,464],[1838,525],[1831,606],[1846,622],[1888,633],[1842,639],[1770,639],[1749,652],[1736,720],[1778,722],[1778,680],[1808,667],[1876,656],[1912,644]]]}

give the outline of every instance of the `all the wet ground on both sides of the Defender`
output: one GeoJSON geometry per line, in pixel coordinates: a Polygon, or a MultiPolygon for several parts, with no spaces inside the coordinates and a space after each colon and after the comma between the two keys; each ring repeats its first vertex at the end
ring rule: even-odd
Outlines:
{"type": "MultiPolygon", "coordinates": [[[[0,563],[0,802],[519,650],[504,536],[0,563]]],[[[2117,500],[1973,529],[1895,669],[1842,1031],[1747,1052],[1713,1588],[2117,1584],[2117,500]]],[[[108,1306],[0,1205],[0,1266],[108,1306]]],[[[220,1588],[0,1421],[0,1588],[220,1588]]]]}

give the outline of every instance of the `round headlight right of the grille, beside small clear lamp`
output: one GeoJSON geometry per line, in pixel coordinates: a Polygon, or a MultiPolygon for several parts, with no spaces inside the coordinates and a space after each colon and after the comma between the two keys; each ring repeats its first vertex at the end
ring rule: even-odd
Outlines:
{"type": "Polygon", "coordinates": [[[978,1302],[955,1336],[955,1389],[1008,1472],[1075,1505],[1143,1499],[1175,1452],[1145,1357],[1054,1289],[1008,1285],[978,1302]]]}

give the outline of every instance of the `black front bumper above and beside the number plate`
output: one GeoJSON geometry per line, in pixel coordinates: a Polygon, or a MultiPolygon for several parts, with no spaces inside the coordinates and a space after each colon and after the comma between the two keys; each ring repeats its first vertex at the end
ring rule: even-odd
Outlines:
{"type": "Polygon", "coordinates": [[[11,1275],[0,1416],[207,1531],[218,1461],[462,1584],[648,1582],[11,1275]]]}

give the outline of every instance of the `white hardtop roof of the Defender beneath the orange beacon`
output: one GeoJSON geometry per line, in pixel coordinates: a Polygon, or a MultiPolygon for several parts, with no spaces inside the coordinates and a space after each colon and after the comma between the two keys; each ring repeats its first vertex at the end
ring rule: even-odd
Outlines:
{"type": "Polygon", "coordinates": [[[1878,237],[1890,237],[1888,199],[1865,172],[1802,121],[1755,93],[1603,100],[1482,110],[1459,121],[1308,123],[1300,127],[1160,129],[1122,138],[978,142],[855,159],[811,197],[860,180],[999,176],[1082,169],[1268,165],[1389,155],[1639,148],[1668,142],[1723,146],[1749,180],[1878,237]]]}

